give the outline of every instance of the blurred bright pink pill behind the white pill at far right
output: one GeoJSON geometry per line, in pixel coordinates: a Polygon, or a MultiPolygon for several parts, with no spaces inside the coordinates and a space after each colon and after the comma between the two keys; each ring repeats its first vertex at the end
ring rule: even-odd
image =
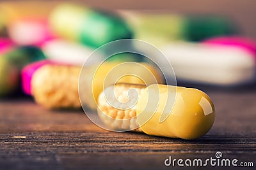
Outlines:
{"type": "Polygon", "coordinates": [[[219,36],[205,39],[202,43],[207,45],[236,46],[256,56],[256,41],[242,36],[219,36]]]}

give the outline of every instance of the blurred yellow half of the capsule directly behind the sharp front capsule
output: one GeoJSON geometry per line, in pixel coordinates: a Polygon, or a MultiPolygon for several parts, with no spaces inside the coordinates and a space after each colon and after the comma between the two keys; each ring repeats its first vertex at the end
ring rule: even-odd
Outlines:
{"type": "Polygon", "coordinates": [[[146,62],[104,62],[83,67],[79,81],[81,103],[95,110],[100,92],[116,82],[150,85],[165,80],[156,66],[146,62]]]}

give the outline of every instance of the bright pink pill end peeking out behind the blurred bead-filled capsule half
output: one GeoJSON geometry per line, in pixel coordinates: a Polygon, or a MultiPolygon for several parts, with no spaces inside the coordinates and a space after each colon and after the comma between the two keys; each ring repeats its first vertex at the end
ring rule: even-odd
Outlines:
{"type": "Polygon", "coordinates": [[[21,71],[21,86],[22,90],[25,94],[31,95],[31,79],[33,77],[33,74],[37,69],[39,69],[42,66],[45,66],[46,64],[55,64],[51,60],[40,60],[38,62],[33,62],[31,64],[28,64],[25,66],[21,71]]]}

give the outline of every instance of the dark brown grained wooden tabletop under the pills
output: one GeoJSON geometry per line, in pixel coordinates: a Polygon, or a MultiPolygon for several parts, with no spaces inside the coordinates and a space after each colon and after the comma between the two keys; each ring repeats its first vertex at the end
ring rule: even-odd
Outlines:
{"type": "Polygon", "coordinates": [[[216,152],[254,162],[255,169],[256,88],[203,90],[216,120],[208,134],[189,141],[104,131],[81,110],[49,111],[28,97],[0,101],[0,169],[176,169],[164,160],[207,159],[216,152]]]}

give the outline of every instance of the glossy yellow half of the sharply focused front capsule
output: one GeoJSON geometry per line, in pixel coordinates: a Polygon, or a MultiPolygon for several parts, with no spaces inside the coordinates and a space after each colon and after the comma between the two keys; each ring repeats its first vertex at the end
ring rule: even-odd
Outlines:
{"type": "Polygon", "coordinates": [[[200,90],[154,84],[141,93],[136,115],[146,134],[195,139],[211,129],[215,110],[200,90]]]}

